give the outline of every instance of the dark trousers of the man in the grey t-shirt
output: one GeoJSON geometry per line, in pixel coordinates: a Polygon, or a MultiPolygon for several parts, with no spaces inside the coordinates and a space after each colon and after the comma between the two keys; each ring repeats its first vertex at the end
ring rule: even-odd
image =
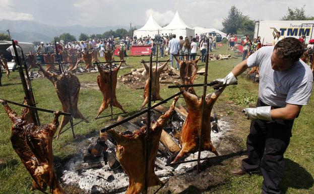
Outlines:
{"type": "MultiPolygon", "coordinates": [[[[267,106],[258,100],[257,106],[267,106]]],[[[274,107],[277,108],[277,107],[274,107]]],[[[291,137],[294,120],[253,120],[246,139],[247,158],[241,169],[254,172],[261,168],[263,193],[280,194],[279,183],[283,176],[285,153],[291,137]]]]}

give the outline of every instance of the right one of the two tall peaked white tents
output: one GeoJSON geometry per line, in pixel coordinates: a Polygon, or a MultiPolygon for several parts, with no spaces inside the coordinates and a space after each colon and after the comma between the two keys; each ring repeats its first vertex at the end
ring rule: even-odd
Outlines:
{"type": "Polygon", "coordinates": [[[194,37],[194,29],[187,26],[180,18],[178,11],[176,11],[172,21],[162,28],[160,34],[175,34],[176,38],[179,38],[179,36],[183,36],[183,38],[189,36],[194,37]]]}

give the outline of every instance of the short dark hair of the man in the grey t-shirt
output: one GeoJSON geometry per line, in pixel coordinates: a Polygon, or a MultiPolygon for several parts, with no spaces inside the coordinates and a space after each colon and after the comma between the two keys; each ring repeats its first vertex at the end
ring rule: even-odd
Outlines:
{"type": "Polygon", "coordinates": [[[296,38],[287,37],[277,42],[277,56],[284,60],[298,61],[304,52],[303,44],[296,38]]]}

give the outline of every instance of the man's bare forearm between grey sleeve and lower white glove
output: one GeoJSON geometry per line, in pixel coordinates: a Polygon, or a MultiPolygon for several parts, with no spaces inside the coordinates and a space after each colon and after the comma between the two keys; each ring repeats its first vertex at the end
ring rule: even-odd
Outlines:
{"type": "Polygon", "coordinates": [[[292,120],[296,118],[301,111],[302,105],[286,104],[286,107],[276,108],[271,110],[271,117],[273,120],[292,120]]]}

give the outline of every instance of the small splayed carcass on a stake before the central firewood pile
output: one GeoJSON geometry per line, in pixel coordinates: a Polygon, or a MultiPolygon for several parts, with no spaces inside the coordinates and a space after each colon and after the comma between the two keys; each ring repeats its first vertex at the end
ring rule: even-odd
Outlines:
{"type": "MultiPolygon", "coordinates": [[[[168,60],[162,65],[162,66],[159,66],[156,70],[156,68],[153,68],[153,72],[152,72],[152,101],[156,101],[156,100],[163,100],[163,98],[160,97],[159,95],[159,91],[160,91],[160,85],[159,85],[159,78],[160,78],[160,75],[163,71],[163,69],[166,67],[167,63],[169,61],[169,58],[168,60]]],[[[143,63],[143,66],[146,70],[146,75],[149,76],[149,66],[144,62],[144,59],[142,59],[142,63],[143,63]]],[[[144,97],[144,102],[141,106],[141,108],[143,108],[147,103],[148,103],[148,98],[149,98],[149,79],[146,80],[146,84],[145,84],[145,88],[144,88],[144,94],[143,94],[143,97],[144,97]]]]}

